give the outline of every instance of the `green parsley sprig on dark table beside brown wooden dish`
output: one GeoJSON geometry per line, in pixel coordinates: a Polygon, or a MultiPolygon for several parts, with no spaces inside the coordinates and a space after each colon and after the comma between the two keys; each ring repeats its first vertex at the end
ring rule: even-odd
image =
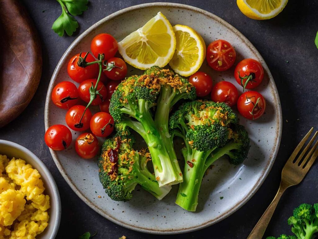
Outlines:
{"type": "Polygon", "coordinates": [[[71,36],[79,27],[78,22],[73,16],[82,14],[83,11],[87,10],[86,4],[88,0],[56,0],[62,7],[62,14],[52,25],[52,29],[60,37],[66,32],[67,35],[71,36]],[[70,13],[70,14],[69,14],[70,13]]]}

